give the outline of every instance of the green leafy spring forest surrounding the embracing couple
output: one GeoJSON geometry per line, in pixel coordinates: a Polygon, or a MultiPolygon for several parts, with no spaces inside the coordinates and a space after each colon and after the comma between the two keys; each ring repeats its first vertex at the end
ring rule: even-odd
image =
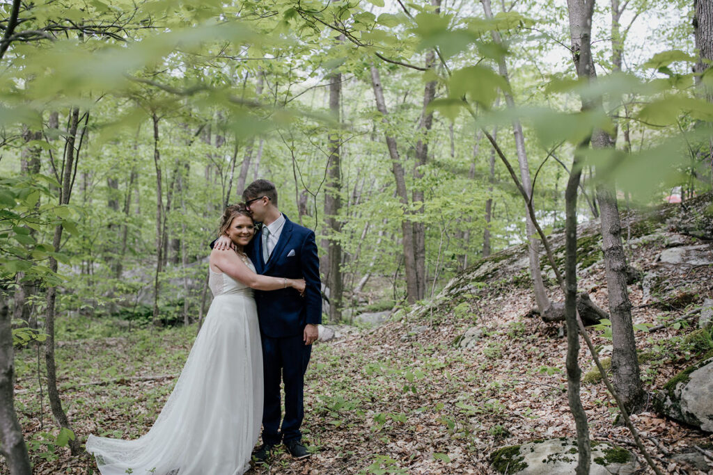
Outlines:
{"type": "Polygon", "coordinates": [[[312,456],[250,473],[713,470],[713,0],[1,0],[0,34],[0,473],[148,431],[260,178],[323,313],[312,456]]]}

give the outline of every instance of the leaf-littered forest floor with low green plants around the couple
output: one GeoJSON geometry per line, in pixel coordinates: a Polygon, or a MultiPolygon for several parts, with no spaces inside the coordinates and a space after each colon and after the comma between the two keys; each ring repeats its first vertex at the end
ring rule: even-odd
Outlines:
{"type": "MultiPolygon", "coordinates": [[[[665,226],[655,232],[673,235],[665,226]]],[[[684,244],[696,242],[684,239],[684,244]]],[[[642,271],[655,268],[663,241],[640,240],[630,261],[642,271]]],[[[635,324],[671,324],[712,296],[713,266],[669,269],[666,276],[667,293],[672,293],[659,303],[642,303],[642,288],[630,286],[635,324]]],[[[605,308],[601,261],[582,273],[579,286],[605,308]]],[[[550,296],[561,298],[554,288],[550,296]]],[[[317,343],[307,373],[303,426],[314,454],[294,461],[281,450],[269,467],[249,474],[493,474],[488,456],[499,447],[572,437],[566,339],[558,335],[560,325],[526,318],[533,306],[527,279],[498,278],[430,309],[402,310],[377,328],[317,343]],[[472,327],[482,330],[480,340],[473,348],[458,348],[458,337],[472,327]]],[[[638,348],[647,355],[641,367],[647,390],[662,387],[705,353],[701,344],[686,343],[695,329],[692,322],[637,331],[638,348]]],[[[81,441],[88,434],[135,438],[148,431],[195,331],[195,326],[118,330],[82,318],[63,323],[59,385],[81,441]]],[[[605,357],[611,343],[602,333],[590,329],[605,357]]],[[[43,355],[36,350],[19,353],[16,385],[35,473],[98,473],[91,458],[73,458],[66,447],[53,447],[58,429],[48,414],[46,391],[40,404],[39,356],[41,366],[43,355]]],[[[579,362],[583,372],[593,367],[585,350],[579,362]]],[[[628,430],[613,426],[618,410],[604,385],[583,383],[582,399],[591,437],[632,450],[645,466],[628,430]]],[[[672,461],[671,455],[711,442],[709,434],[663,419],[650,404],[632,419],[663,471],[703,473],[672,461]]]]}

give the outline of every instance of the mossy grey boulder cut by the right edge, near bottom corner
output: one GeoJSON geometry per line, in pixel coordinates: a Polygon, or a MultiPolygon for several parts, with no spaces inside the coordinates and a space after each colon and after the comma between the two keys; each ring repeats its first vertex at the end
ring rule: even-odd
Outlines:
{"type": "Polygon", "coordinates": [[[671,419],[713,432],[713,357],[672,377],[654,398],[654,409],[671,419]]]}

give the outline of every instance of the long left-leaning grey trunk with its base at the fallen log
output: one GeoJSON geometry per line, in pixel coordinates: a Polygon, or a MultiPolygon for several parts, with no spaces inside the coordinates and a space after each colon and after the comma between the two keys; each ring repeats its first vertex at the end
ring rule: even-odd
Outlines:
{"type": "MultiPolygon", "coordinates": [[[[483,4],[483,10],[485,11],[486,18],[493,18],[493,11],[491,9],[490,0],[481,0],[483,4]]],[[[502,44],[502,38],[497,30],[492,31],[493,41],[497,44],[502,44]]],[[[505,78],[508,83],[508,66],[504,58],[498,60],[498,70],[500,75],[505,78]]],[[[510,93],[505,93],[506,104],[508,109],[515,108],[515,100],[510,93]]],[[[528,199],[532,202],[532,183],[530,182],[530,166],[528,165],[528,155],[525,150],[525,138],[523,136],[523,127],[519,120],[513,120],[513,135],[515,137],[515,150],[518,154],[518,165],[520,167],[520,182],[525,189],[525,193],[528,195],[528,199]]],[[[533,279],[533,288],[535,291],[535,302],[540,309],[540,313],[545,313],[545,310],[550,306],[550,298],[545,292],[545,283],[542,278],[542,271],[540,270],[540,255],[538,252],[539,241],[537,229],[535,229],[535,224],[533,223],[530,213],[527,207],[525,207],[525,231],[528,238],[528,254],[530,256],[530,276],[533,279]]]]}

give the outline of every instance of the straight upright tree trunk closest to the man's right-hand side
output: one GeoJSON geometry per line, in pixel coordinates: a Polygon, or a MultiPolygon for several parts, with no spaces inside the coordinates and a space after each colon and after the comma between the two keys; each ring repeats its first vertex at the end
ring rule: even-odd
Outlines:
{"type": "MultiPolygon", "coordinates": [[[[339,38],[344,38],[340,36],[339,38]]],[[[339,39],[338,38],[338,39],[339,39]]],[[[340,122],[339,99],[342,93],[342,74],[334,73],[329,84],[329,110],[332,118],[340,122]]],[[[342,208],[342,174],[338,132],[329,135],[329,162],[327,165],[327,182],[324,194],[324,220],[326,225],[327,246],[326,281],[329,287],[329,321],[337,323],[342,320],[342,244],[334,239],[342,231],[339,221],[339,210],[342,208]]]]}

